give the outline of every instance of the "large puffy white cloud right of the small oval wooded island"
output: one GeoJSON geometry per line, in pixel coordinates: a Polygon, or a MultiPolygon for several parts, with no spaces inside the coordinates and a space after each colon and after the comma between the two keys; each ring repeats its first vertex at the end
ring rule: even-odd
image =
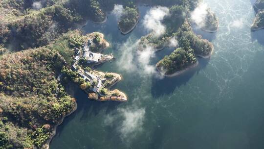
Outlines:
{"type": "Polygon", "coordinates": [[[156,6],[151,8],[144,17],[143,25],[148,30],[153,32],[154,36],[162,35],[166,27],[161,21],[170,14],[169,8],[156,6]]]}

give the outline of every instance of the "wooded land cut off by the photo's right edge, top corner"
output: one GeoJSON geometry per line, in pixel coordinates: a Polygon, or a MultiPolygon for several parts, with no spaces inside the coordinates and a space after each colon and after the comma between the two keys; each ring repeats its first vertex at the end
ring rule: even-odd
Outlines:
{"type": "Polygon", "coordinates": [[[251,25],[251,30],[257,31],[264,28],[264,0],[257,0],[254,4],[254,9],[257,14],[251,25]]]}

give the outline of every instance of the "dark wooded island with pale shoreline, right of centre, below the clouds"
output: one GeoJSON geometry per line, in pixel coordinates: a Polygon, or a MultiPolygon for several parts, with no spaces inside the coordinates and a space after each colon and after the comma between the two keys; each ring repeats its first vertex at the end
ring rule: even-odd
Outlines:
{"type": "Polygon", "coordinates": [[[188,22],[178,29],[178,47],[169,56],[166,55],[156,64],[156,69],[164,76],[177,76],[198,65],[197,57],[210,58],[213,44],[197,36],[188,22]]]}

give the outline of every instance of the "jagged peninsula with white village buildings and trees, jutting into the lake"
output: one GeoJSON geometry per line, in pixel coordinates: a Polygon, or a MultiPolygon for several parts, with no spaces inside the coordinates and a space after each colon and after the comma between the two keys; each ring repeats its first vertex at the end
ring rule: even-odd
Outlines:
{"type": "Polygon", "coordinates": [[[77,83],[89,95],[89,99],[127,101],[126,95],[119,90],[109,91],[111,86],[121,80],[121,75],[102,73],[92,69],[93,66],[113,59],[111,54],[104,55],[100,53],[100,51],[109,47],[104,35],[96,32],[87,36],[79,36],[82,38],[83,44],[81,47],[74,47],[75,54],[72,68],[63,67],[62,77],[77,83]]]}

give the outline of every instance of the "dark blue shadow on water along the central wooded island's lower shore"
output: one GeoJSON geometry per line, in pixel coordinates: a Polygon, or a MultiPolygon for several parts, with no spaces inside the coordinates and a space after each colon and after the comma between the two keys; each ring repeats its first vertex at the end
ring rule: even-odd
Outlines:
{"type": "Polygon", "coordinates": [[[197,67],[175,77],[165,77],[163,79],[153,77],[151,89],[152,96],[158,98],[163,95],[170,95],[177,87],[185,85],[192,78],[192,76],[198,74],[200,70],[204,69],[209,60],[210,59],[199,58],[199,64],[197,67]]]}

